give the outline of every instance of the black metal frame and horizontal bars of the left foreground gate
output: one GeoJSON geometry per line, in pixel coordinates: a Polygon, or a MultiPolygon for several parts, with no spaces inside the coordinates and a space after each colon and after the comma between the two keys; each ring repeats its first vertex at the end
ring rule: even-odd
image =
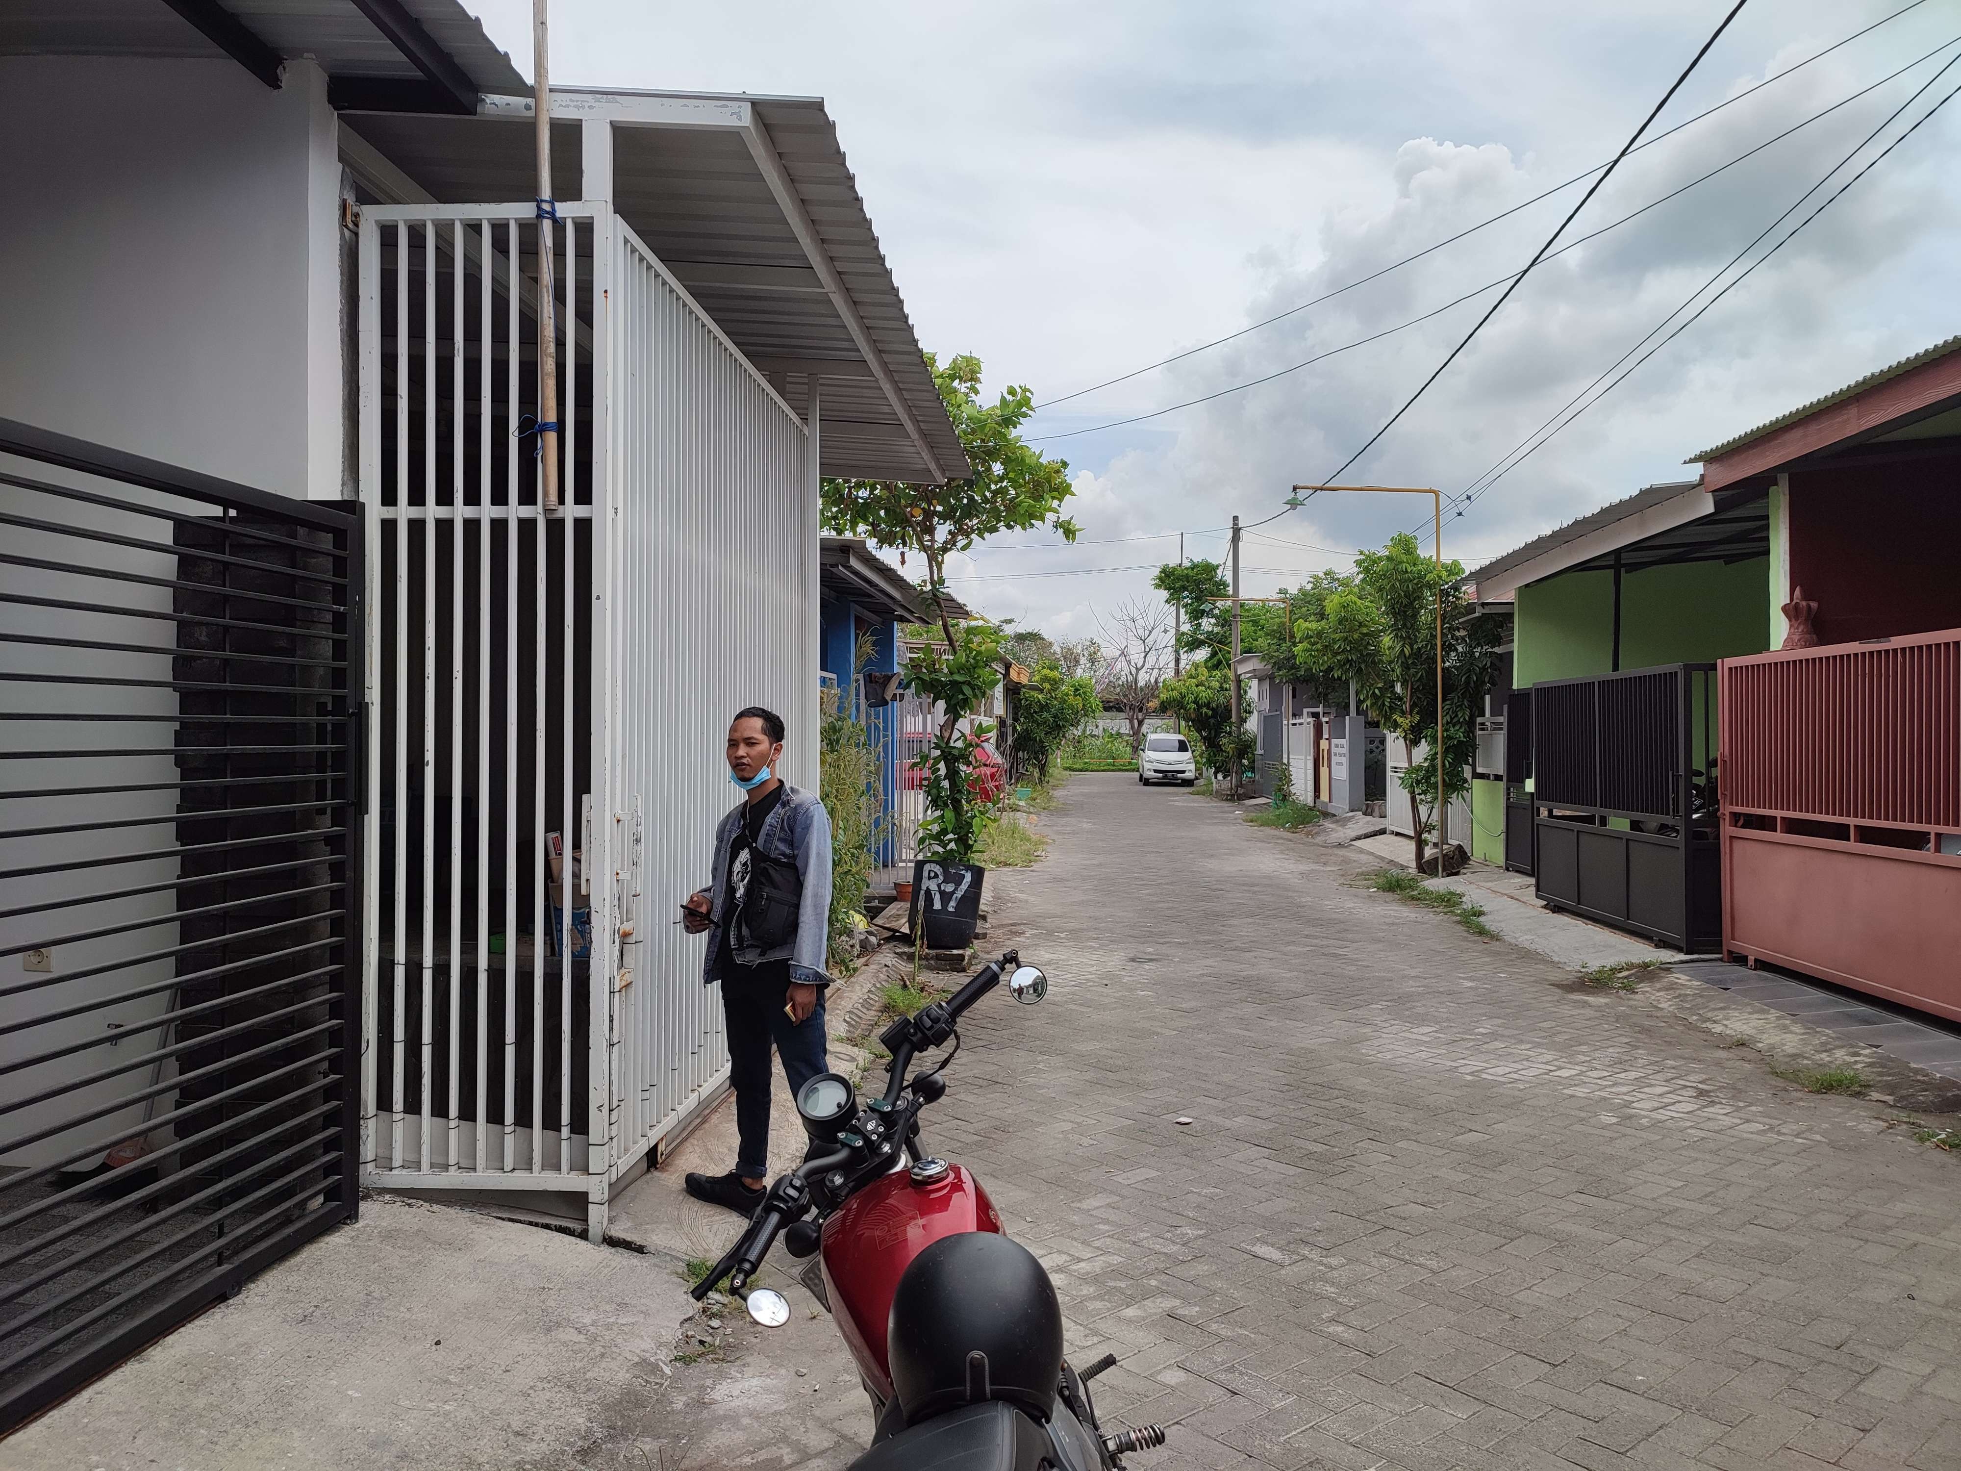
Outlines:
{"type": "Polygon", "coordinates": [[[73,655],[63,673],[0,671],[0,688],[167,688],[176,700],[176,714],[25,712],[18,698],[6,702],[0,718],[63,722],[75,732],[76,749],[0,753],[0,814],[10,800],[155,790],[175,790],[176,808],[169,816],[75,824],[10,822],[0,837],[59,839],[173,824],[175,837],[127,853],[0,869],[0,883],[157,859],[175,859],[176,877],[122,887],[110,881],[100,890],[84,883],[35,904],[22,904],[16,888],[12,902],[0,900],[0,920],[47,916],[49,934],[6,943],[0,959],[33,949],[59,955],[63,945],[163,926],[178,926],[176,938],[188,939],[69,973],[0,983],[0,998],[29,996],[27,1014],[0,1026],[0,1079],[49,1063],[67,1063],[71,1071],[57,1085],[43,1079],[43,1087],[29,1085],[0,1102],[0,1159],[67,1136],[49,1163],[0,1167],[4,1434],[235,1293],[304,1242],[355,1218],[367,708],[365,545],[357,502],[275,496],[12,420],[0,420],[0,453],[102,482],[80,488],[0,471],[0,482],[25,492],[22,500],[41,496],[53,506],[106,508],[165,526],[159,541],[82,526],[59,512],[51,518],[0,512],[4,532],[73,537],[76,545],[71,561],[53,561],[0,539],[0,567],[65,575],[76,588],[73,598],[29,596],[16,575],[14,586],[0,590],[0,604],[80,616],[75,637],[0,632],[0,651],[53,645],[73,655]],[[129,490],[163,492],[192,506],[165,508],[129,490]],[[175,575],[90,563],[88,547],[159,553],[175,559],[175,575]],[[186,563],[210,569],[212,581],[186,577],[186,563]],[[245,586],[235,586],[237,581],[245,586]],[[118,586],[169,588],[171,612],[118,604],[118,586]],[[200,600],[216,610],[200,612],[200,600]],[[86,637],[86,616],[104,612],[175,622],[175,645],[86,637]],[[104,655],[120,653],[169,655],[173,677],[131,679],[102,667],[104,655]],[[218,665],[216,677],[182,677],[186,669],[210,673],[210,665],[218,665]],[[233,708],[241,698],[253,706],[249,712],[233,708]],[[300,708],[302,700],[316,708],[300,708]],[[278,708],[280,702],[290,708],[278,708]],[[171,724],[173,737],[165,745],[118,739],[110,722],[171,724]],[[210,743],[186,739],[186,726],[204,728],[210,743]],[[90,739],[92,730],[110,734],[90,739]],[[175,781],[102,785],[84,777],[92,757],[145,755],[173,757],[175,781]],[[76,781],[16,790],[6,779],[12,767],[6,757],[61,757],[76,781]],[[222,759],[222,775],[194,769],[212,759],[222,759]],[[235,775],[235,765],[245,765],[245,775],[235,775]],[[312,790],[288,790],[294,786],[312,790]],[[308,851],[286,851],[300,847],[308,851]],[[176,894],[176,906],[161,918],[80,922],[59,932],[63,910],[157,892],[176,894]],[[75,990],[75,983],[145,963],[171,965],[171,979],[75,990]],[[49,1002],[37,1004],[33,992],[49,1002]],[[33,1043],[37,1028],[153,996],[165,996],[165,1010],[153,1020],[104,1028],[98,1040],[47,1045],[43,1034],[41,1045],[33,1043]],[[153,1045],[137,1047],[141,1055],[133,1061],[90,1065],[98,1059],[88,1053],[112,1040],[143,1038],[153,1045]],[[165,1063],[175,1063],[175,1077],[163,1077],[165,1063]],[[61,1098],[104,1085],[116,1087],[108,1102],[96,1092],[53,1124],[8,1132],[10,1116],[22,1108],[59,1108],[61,1098]],[[145,1108],[141,1122],[116,1122],[118,1114],[127,1120],[133,1106],[145,1108]],[[96,1128],[88,1130],[90,1124],[96,1128]],[[63,1177],[63,1169],[129,1140],[147,1140],[149,1153],[116,1167],[104,1159],[80,1177],[63,1177]]]}

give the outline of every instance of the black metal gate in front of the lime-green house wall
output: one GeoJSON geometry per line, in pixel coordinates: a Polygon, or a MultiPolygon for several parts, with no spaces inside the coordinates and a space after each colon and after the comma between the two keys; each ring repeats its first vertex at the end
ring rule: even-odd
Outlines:
{"type": "Polygon", "coordinates": [[[1659,939],[1722,945],[1716,665],[1532,686],[1537,894],[1659,939]]]}

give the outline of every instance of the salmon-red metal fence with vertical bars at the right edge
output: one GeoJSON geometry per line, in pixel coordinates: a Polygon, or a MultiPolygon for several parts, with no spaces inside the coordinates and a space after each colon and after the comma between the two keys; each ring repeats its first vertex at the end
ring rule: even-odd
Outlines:
{"type": "Polygon", "coordinates": [[[1961,630],[1720,679],[1724,951],[1961,1020],[1961,630]]]}

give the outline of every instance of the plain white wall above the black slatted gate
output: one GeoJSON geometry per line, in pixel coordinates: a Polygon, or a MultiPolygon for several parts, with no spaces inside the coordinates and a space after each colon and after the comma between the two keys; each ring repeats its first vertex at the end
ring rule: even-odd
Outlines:
{"type": "Polygon", "coordinates": [[[0,57],[0,416],[341,494],[326,76],[0,57]]]}

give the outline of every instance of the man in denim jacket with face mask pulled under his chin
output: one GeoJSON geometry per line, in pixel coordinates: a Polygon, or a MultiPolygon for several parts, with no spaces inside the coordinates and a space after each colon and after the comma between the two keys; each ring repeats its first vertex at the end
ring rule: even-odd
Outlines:
{"type": "Polygon", "coordinates": [[[728,1175],[688,1175],[696,1200],[755,1214],[769,1181],[769,1047],[790,1096],[824,1059],[824,973],[831,926],[831,820],[816,792],[777,777],[782,718],[749,706],[729,722],[729,781],[743,800],[716,828],[714,883],[682,904],[708,936],[702,985],[722,983],[739,1149],[728,1175]]]}

